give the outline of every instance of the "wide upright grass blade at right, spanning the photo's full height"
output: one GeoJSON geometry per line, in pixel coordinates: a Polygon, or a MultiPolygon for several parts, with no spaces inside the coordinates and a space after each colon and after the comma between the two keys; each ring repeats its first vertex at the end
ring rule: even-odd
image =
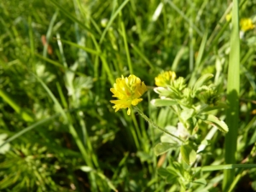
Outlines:
{"type": "MultiPolygon", "coordinates": [[[[240,92],[240,38],[239,38],[239,2],[233,0],[232,31],[230,36],[230,61],[228,71],[226,123],[230,131],[226,134],[224,149],[225,162],[236,163],[236,142],[239,120],[239,92],[240,92]]],[[[223,191],[227,191],[235,178],[234,170],[224,171],[223,191]]]]}

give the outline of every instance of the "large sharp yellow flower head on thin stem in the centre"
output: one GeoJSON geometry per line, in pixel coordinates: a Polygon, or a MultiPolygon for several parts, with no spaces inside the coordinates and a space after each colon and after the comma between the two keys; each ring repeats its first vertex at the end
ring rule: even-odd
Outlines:
{"type": "Polygon", "coordinates": [[[119,100],[111,100],[110,102],[114,104],[115,112],[120,108],[128,108],[127,114],[131,114],[131,105],[136,106],[137,103],[142,102],[143,93],[147,91],[148,88],[135,75],[130,75],[128,78],[116,79],[116,83],[113,84],[113,88],[110,91],[113,93],[113,97],[119,98],[119,100]]]}

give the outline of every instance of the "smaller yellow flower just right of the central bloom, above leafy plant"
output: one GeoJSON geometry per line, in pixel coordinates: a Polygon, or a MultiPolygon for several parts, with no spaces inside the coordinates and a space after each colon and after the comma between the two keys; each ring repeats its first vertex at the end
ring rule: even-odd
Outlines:
{"type": "Polygon", "coordinates": [[[171,85],[172,81],[176,79],[176,73],[172,71],[160,73],[154,82],[159,87],[166,87],[166,85],[171,85]]]}

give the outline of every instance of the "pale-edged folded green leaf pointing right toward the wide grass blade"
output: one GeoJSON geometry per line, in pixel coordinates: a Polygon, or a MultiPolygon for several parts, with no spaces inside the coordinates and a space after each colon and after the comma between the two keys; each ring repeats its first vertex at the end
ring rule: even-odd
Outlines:
{"type": "Polygon", "coordinates": [[[212,114],[201,114],[201,115],[197,115],[196,117],[198,117],[203,121],[206,121],[206,123],[215,125],[219,131],[223,131],[225,133],[229,131],[228,125],[226,125],[223,120],[218,119],[212,114]]]}

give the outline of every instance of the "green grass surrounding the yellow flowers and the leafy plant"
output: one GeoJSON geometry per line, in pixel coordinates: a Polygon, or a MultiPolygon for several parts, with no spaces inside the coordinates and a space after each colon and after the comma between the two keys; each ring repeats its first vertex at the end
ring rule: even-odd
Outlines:
{"type": "MultiPolygon", "coordinates": [[[[213,131],[192,167],[202,166],[197,179],[207,183],[189,191],[256,190],[256,31],[238,36],[238,18],[256,18],[256,8],[249,0],[234,3],[227,22],[230,3],[1,1],[0,190],[183,191],[157,172],[178,151],[156,156],[162,132],[135,111],[114,113],[109,102],[121,75],[154,87],[163,70],[189,85],[212,73],[219,99],[230,104],[213,112],[230,132],[213,131]]],[[[177,116],[152,106],[154,98],[150,88],[139,110],[156,126],[176,126],[177,116]]],[[[211,130],[202,125],[201,137],[211,130]]]]}

